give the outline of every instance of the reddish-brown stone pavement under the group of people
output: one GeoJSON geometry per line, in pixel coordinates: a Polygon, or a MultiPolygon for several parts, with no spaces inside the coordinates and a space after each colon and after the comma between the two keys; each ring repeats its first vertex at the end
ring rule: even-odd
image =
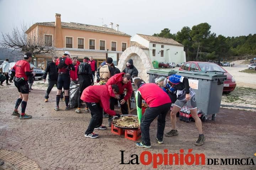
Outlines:
{"type": "MultiPolygon", "coordinates": [[[[53,110],[55,92],[50,94],[49,102],[44,103],[43,90],[33,90],[27,105],[27,113],[32,119],[20,120],[11,116],[18,97],[14,87],[0,88],[0,149],[9,149],[34,160],[42,170],[85,169],[85,170],[151,170],[150,165],[122,165],[143,151],[151,153],[185,153],[192,148],[192,153],[204,153],[206,158],[254,158],[256,163],[256,133],[254,112],[220,109],[216,121],[203,123],[206,143],[194,146],[198,132],[194,122],[185,123],[177,120],[179,135],[164,137],[164,144],[156,143],[156,120],[150,126],[151,149],[135,147],[135,142],[119,137],[107,130],[95,130],[100,137],[85,138],[90,114],[76,114],[75,110],[64,111],[64,102],[60,111],[53,110]],[[14,92],[12,92],[14,91],[14,92]]],[[[84,110],[82,110],[84,111],[84,110]]],[[[103,119],[107,124],[107,119],[103,119]]],[[[170,115],[166,118],[165,132],[170,131],[170,115]]],[[[1,159],[1,158],[0,158],[1,159]]],[[[140,160],[139,160],[140,162],[140,160]]],[[[207,164],[207,162],[206,162],[207,164]]],[[[255,165],[160,165],[158,169],[254,169],[255,165]]]]}

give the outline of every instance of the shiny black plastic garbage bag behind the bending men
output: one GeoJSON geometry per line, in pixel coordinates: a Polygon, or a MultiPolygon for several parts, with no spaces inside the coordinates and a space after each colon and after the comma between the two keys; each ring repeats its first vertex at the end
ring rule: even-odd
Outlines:
{"type": "Polygon", "coordinates": [[[79,84],[75,84],[74,81],[71,81],[69,87],[69,106],[71,108],[78,107],[79,90],[79,84]]]}

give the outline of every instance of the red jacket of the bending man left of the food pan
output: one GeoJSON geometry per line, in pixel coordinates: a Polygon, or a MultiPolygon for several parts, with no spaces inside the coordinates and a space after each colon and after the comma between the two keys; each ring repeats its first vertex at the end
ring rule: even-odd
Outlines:
{"type": "Polygon", "coordinates": [[[109,115],[116,115],[116,112],[110,109],[110,97],[115,94],[112,87],[109,85],[89,86],[82,92],[81,100],[88,103],[100,103],[104,112],[109,115]]]}

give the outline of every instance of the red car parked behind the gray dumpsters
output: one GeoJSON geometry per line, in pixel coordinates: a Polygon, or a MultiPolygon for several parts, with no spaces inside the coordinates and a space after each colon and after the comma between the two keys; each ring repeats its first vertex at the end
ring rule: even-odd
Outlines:
{"type": "Polygon", "coordinates": [[[205,71],[205,72],[222,72],[227,76],[227,80],[224,81],[223,92],[229,94],[236,87],[235,79],[231,74],[229,74],[224,68],[220,67],[218,64],[209,63],[209,62],[198,62],[198,61],[189,61],[184,63],[179,70],[183,71],[205,71]]]}

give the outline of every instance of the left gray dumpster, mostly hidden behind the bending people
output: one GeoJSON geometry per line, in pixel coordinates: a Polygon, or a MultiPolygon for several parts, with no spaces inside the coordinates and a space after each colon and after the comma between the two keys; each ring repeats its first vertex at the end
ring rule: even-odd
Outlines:
{"type": "Polygon", "coordinates": [[[155,78],[159,76],[168,77],[175,73],[177,73],[177,71],[172,69],[150,69],[147,71],[147,74],[149,74],[149,83],[155,83],[155,78]]]}

